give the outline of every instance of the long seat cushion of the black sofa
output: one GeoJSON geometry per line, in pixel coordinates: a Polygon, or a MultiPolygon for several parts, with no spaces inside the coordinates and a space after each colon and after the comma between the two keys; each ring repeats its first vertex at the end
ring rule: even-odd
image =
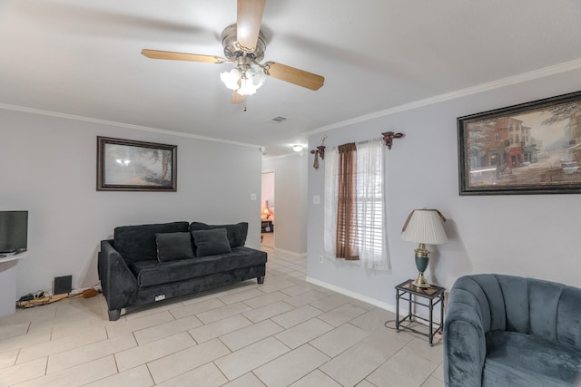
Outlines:
{"type": "Polygon", "coordinates": [[[133,262],[130,265],[139,286],[153,286],[183,281],[198,276],[225,273],[241,267],[264,265],[266,253],[249,247],[234,247],[218,256],[192,257],[178,261],[133,262]]]}

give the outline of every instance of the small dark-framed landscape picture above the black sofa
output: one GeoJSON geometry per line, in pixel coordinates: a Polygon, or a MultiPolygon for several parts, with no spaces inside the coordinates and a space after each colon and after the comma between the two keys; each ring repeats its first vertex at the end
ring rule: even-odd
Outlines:
{"type": "Polygon", "coordinates": [[[97,190],[177,190],[177,145],[97,136],[97,190]]]}

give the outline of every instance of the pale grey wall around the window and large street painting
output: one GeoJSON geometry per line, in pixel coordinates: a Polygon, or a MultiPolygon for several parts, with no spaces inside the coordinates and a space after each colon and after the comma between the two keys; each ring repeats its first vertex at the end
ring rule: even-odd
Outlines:
{"type": "MultiPolygon", "coordinates": [[[[449,288],[458,276],[503,273],[581,286],[579,195],[458,195],[457,117],[581,90],[581,70],[521,82],[487,92],[400,111],[310,136],[310,149],[380,137],[400,131],[388,150],[387,222],[391,272],[362,269],[338,260],[319,263],[323,251],[324,166],[309,169],[308,276],[378,305],[395,305],[394,286],[417,275],[416,246],[400,239],[414,208],[438,208],[448,218],[449,243],[433,251],[428,280],[449,288]]],[[[324,162],[324,161],[323,161],[324,162]]],[[[321,162],[321,164],[323,163],[321,162]]]]}

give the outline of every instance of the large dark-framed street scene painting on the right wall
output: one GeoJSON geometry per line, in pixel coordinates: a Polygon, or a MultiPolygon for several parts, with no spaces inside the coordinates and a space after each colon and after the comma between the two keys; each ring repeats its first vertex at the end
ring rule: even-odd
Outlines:
{"type": "Polygon", "coordinates": [[[581,193],[581,92],[457,120],[460,196],[581,193]]]}

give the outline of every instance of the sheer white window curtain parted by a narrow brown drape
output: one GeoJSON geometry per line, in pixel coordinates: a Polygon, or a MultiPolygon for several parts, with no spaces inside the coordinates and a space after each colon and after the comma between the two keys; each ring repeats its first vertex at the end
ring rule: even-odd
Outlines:
{"type": "MultiPolygon", "coordinates": [[[[389,270],[389,249],[385,221],[385,146],[382,140],[357,145],[357,217],[361,265],[389,270]]],[[[324,250],[336,257],[337,149],[325,152],[324,250]]]]}

